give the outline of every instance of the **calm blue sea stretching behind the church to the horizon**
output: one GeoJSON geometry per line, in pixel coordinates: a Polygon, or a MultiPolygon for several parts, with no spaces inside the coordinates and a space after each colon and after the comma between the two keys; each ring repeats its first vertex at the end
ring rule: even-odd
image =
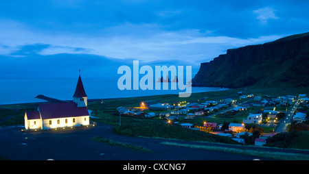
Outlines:
{"type": "MultiPolygon", "coordinates": [[[[185,90],[119,90],[118,78],[82,77],[88,99],[111,99],[122,97],[143,97],[150,95],[179,94],[185,90]]],[[[0,105],[14,103],[45,102],[35,98],[45,95],[60,100],[72,100],[78,78],[11,78],[0,79],[0,105]]],[[[192,87],[192,92],[228,90],[218,87],[192,87]]]]}

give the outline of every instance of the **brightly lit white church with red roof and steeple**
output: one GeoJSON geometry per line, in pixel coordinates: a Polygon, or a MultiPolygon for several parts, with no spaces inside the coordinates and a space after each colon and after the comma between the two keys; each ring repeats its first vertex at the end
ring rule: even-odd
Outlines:
{"type": "Polygon", "coordinates": [[[56,129],[89,125],[87,95],[84,92],[81,77],[78,77],[73,102],[40,104],[37,110],[25,112],[24,119],[25,129],[56,129]]]}

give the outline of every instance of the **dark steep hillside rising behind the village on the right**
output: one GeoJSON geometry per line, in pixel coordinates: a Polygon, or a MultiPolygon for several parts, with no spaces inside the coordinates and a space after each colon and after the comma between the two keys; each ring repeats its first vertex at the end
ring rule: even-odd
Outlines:
{"type": "Polygon", "coordinates": [[[262,45],[228,49],[201,67],[192,86],[308,87],[309,32],[262,45]]]}

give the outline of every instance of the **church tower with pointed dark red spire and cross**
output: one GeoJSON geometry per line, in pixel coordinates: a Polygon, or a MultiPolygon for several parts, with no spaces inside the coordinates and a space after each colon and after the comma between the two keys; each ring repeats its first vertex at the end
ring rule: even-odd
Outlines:
{"type": "Polygon", "coordinates": [[[82,84],[82,78],[78,77],[78,83],[76,85],[76,90],[73,95],[73,101],[79,107],[87,107],[87,95],[84,92],[84,85],[82,84]]]}

